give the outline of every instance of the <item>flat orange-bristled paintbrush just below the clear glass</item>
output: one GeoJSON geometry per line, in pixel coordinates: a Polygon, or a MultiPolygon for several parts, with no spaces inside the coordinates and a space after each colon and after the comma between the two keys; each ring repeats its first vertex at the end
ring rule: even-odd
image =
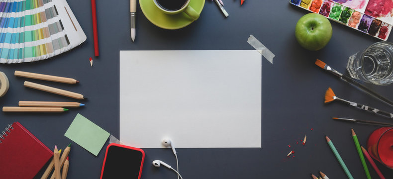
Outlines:
{"type": "Polygon", "coordinates": [[[356,89],[361,89],[362,91],[366,92],[367,94],[383,101],[386,102],[387,104],[393,106],[393,101],[391,101],[390,99],[378,94],[377,92],[373,91],[372,89],[369,89],[368,87],[360,84],[359,82],[341,74],[340,72],[334,70],[333,68],[331,68],[330,66],[328,66],[327,64],[325,64],[324,62],[316,59],[315,61],[315,65],[317,65],[318,67],[330,72],[331,74],[337,76],[338,78],[340,78],[341,80],[343,80],[344,82],[349,83],[350,85],[356,87],[356,89]]]}

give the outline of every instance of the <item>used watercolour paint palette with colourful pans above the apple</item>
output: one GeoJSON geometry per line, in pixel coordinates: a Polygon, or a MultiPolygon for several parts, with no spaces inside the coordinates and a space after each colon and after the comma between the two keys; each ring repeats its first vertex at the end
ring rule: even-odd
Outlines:
{"type": "Polygon", "coordinates": [[[290,0],[291,4],[387,40],[393,24],[393,0],[290,0]]]}

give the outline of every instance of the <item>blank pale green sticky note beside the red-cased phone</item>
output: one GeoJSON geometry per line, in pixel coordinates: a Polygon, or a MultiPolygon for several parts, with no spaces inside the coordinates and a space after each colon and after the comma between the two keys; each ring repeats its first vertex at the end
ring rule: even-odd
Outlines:
{"type": "Polygon", "coordinates": [[[98,155],[109,135],[108,132],[79,113],[64,134],[95,156],[98,155]]]}

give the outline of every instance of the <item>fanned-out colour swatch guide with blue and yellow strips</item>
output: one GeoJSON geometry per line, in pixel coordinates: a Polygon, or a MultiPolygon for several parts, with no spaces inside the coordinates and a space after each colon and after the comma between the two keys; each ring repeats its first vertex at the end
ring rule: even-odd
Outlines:
{"type": "Polygon", "coordinates": [[[85,40],[66,0],[0,0],[0,63],[44,60],[85,40]]]}

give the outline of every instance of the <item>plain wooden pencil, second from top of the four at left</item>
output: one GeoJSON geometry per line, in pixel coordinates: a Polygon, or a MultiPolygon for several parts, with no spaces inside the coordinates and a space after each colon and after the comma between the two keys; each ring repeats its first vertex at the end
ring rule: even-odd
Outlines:
{"type": "Polygon", "coordinates": [[[28,88],[32,88],[32,89],[38,89],[38,90],[42,90],[42,91],[46,91],[46,92],[51,92],[51,93],[55,93],[55,94],[59,94],[59,95],[67,96],[67,97],[72,97],[75,99],[87,99],[87,97],[84,97],[80,93],[71,92],[71,91],[64,90],[64,89],[57,89],[57,88],[53,88],[53,87],[48,87],[45,85],[40,85],[40,84],[36,84],[36,83],[32,83],[32,82],[25,81],[23,83],[23,86],[28,87],[28,88]]]}

